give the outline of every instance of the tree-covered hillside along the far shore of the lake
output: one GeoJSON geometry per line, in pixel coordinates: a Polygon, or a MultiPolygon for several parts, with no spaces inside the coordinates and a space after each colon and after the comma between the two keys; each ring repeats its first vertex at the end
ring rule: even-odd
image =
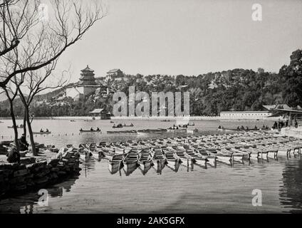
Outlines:
{"type": "MultiPolygon", "coordinates": [[[[137,91],[189,92],[191,115],[219,115],[226,110],[261,110],[262,105],[287,103],[291,107],[302,104],[302,50],[293,51],[289,65],[284,65],[278,73],[248,69],[233,69],[207,73],[199,76],[136,76],[125,75],[122,81],[106,81],[105,87],[112,91],[128,93],[130,86],[137,91]]],[[[49,105],[54,97],[65,89],[37,95],[31,104],[31,115],[35,117],[85,116],[95,108],[113,110],[113,93],[102,96],[97,93],[73,100],[66,98],[59,105],[49,105]],[[47,100],[48,103],[41,103],[47,100]]],[[[0,103],[0,116],[9,117],[9,103],[0,103]]],[[[24,115],[21,100],[14,100],[15,115],[24,115]]]]}

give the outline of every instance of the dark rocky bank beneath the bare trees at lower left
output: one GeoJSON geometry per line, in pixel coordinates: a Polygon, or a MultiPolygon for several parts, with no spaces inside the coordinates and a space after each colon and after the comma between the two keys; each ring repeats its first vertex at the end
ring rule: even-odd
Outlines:
{"type": "Polygon", "coordinates": [[[67,152],[61,159],[24,157],[21,164],[0,163],[0,199],[21,195],[80,175],[80,156],[67,152]]]}

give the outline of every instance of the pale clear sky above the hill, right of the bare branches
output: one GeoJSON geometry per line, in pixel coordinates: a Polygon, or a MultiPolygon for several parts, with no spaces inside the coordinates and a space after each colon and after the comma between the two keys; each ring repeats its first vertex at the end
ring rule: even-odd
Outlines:
{"type": "Polygon", "coordinates": [[[72,80],[89,65],[129,74],[198,75],[233,68],[276,71],[302,48],[301,0],[105,0],[109,14],[66,51],[72,80]],[[263,21],[252,21],[252,5],[263,21]]]}

